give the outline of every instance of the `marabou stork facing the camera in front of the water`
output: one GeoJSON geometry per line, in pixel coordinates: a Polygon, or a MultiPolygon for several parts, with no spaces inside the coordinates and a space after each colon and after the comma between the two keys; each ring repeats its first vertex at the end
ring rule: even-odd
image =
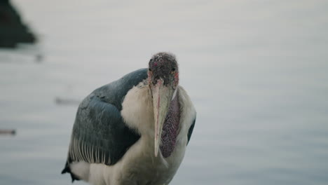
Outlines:
{"type": "Polygon", "coordinates": [[[169,184],[184,158],[196,110],[178,85],[174,55],[97,88],[78,107],[67,163],[72,181],[169,184]]]}

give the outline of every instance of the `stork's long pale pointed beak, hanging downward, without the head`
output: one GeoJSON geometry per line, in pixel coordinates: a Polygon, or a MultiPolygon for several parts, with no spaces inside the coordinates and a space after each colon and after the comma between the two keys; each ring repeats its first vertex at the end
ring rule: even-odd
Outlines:
{"type": "Polygon", "coordinates": [[[163,83],[164,81],[160,79],[151,89],[153,94],[153,117],[155,118],[155,157],[158,155],[163,123],[174,93],[171,84],[165,86],[163,83]]]}

